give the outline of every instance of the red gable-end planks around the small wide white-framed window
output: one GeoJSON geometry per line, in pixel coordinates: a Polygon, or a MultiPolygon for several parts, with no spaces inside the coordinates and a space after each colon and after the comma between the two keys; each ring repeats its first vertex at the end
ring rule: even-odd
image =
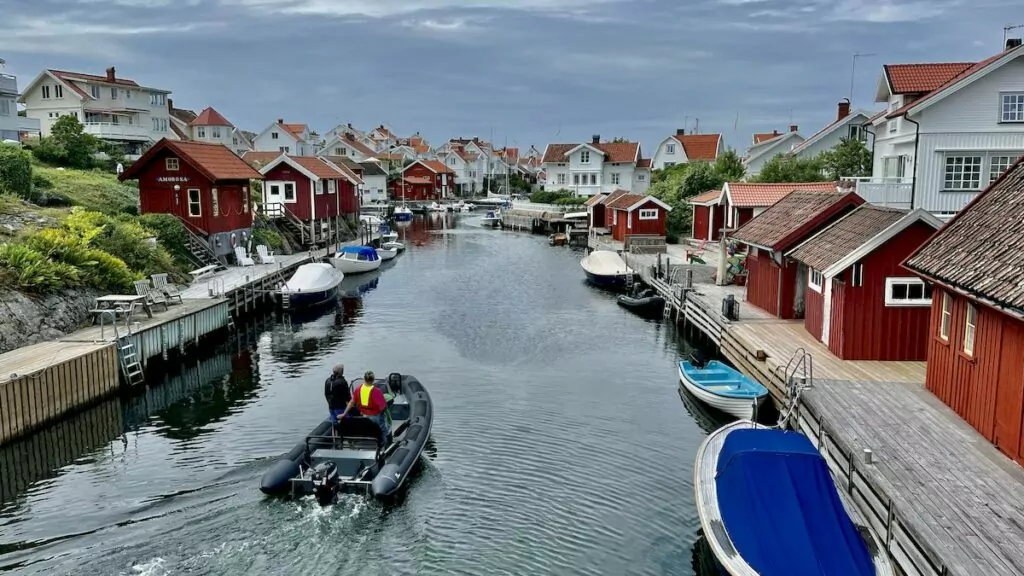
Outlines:
{"type": "MultiPolygon", "coordinates": [[[[928,240],[935,229],[918,222],[865,256],[863,286],[846,281],[842,302],[845,337],[828,340],[828,349],[844,360],[922,361],[928,356],[929,306],[887,306],[886,278],[912,277],[900,264],[928,240]]],[[[833,310],[836,310],[833,299],[833,310]]]]}

